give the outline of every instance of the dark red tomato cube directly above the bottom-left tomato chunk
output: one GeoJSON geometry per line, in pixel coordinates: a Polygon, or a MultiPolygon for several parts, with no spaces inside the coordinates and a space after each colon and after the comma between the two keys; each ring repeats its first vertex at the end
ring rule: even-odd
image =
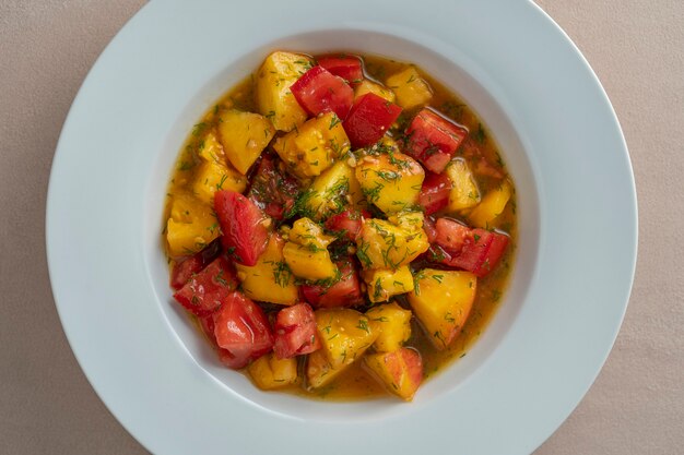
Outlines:
{"type": "Polygon", "coordinates": [[[204,270],[193,275],[174,298],[198,316],[211,314],[223,299],[237,288],[237,277],[225,256],[216,258],[204,270]]]}

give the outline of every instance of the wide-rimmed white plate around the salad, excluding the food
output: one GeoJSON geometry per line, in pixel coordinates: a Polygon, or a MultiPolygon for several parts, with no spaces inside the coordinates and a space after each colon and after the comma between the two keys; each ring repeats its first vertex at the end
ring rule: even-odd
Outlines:
{"type": "Polygon", "coordinates": [[[164,454],[529,454],[603,364],[636,240],[613,109],[570,40],[524,1],[151,2],[74,101],[47,209],[76,358],[121,423],[164,454]],[[471,352],[412,404],[258,392],[172,302],[160,232],[173,161],[200,115],[275,48],[418,63],[485,119],[516,181],[514,284],[471,352]]]}

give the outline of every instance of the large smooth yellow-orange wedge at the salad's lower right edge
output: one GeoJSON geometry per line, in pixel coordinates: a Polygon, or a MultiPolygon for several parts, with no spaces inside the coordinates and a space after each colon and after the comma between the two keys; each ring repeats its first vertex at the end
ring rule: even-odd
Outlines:
{"type": "Polygon", "coordinates": [[[446,349],[463,328],[476,289],[477,277],[470,272],[424,268],[415,276],[409,302],[437,349],[446,349]]]}

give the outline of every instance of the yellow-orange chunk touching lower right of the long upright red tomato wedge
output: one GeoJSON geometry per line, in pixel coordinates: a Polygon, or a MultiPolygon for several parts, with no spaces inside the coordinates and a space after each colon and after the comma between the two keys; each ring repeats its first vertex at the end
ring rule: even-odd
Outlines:
{"type": "Polygon", "coordinates": [[[283,247],[285,241],[279,234],[271,235],[269,243],[257,261],[249,267],[236,264],[237,277],[243,284],[243,291],[250,299],[294,304],[299,298],[295,277],[285,264],[283,247]]]}

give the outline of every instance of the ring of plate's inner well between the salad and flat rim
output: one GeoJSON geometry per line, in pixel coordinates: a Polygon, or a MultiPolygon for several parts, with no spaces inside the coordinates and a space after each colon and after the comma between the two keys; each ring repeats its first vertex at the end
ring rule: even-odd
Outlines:
{"type": "MultiPolygon", "coordinates": [[[[217,58],[221,58],[217,56],[217,58]]],[[[469,61],[464,55],[451,53],[450,58],[392,33],[363,29],[339,29],[298,34],[255,46],[240,58],[226,61],[222,70],[208,79],[197,92],[185,100],[185,108],[169,125],[162,148],[155,151],[156,165],[145,188],[145,216],[143,223],[144,261],[156,295],[156,304],[168,323],[168,330],[177,339],[179,351],[190,356],[199,374],[209,374],[225,387],[225,392],[251,403],[268,412],[300,420],[375,420],[427,406],[432,400],[455,393],[461,384],[476,376],[479,368],[506,343],[507,333],[516,323],[532,282],[539,254],[539,193],[538,179],[526,154],[524,132],[517,128],[515,116],[492,79],[469,61]],[[396,399],[367,402],[318,402],[302,397],[264,393],[256,388],[247,378],[224,368],[205,340],[199,336],[189,318],[173,301],[168,286],[168,265],[162,247],[164,220],[162,212],[167,182],[180,146],[192,125],[204,111],[227,89],[255,71],[272,50],[286,49],[306,53],[345,50],[373,53],[406,62],[414,62],[446,87],[461,96],[490,128],[498,143],[517,190],[519,242],[512,277],[504,294],[500,308],[486,331],[474,344],[468,356],[427,381],[411,405],[396,399]],[[453,55],[457,57],[455,58],[453,55]],[[496,98],[496,99],[495,99],[496,98]],[[498,100],[498,101],[497,101],[498,100]]]]}

